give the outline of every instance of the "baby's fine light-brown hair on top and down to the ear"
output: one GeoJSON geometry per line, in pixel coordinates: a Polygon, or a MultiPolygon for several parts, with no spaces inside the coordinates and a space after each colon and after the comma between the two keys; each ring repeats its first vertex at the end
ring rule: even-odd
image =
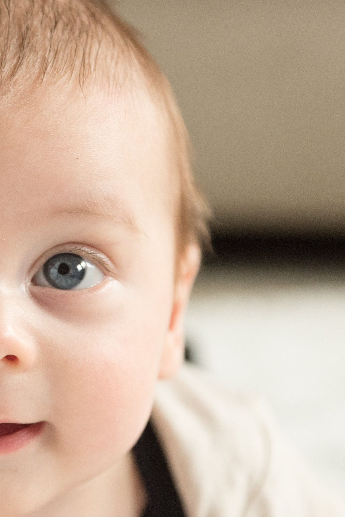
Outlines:
{"type": "Polygon", "coordinates": [[[209,209],[194,183],[189,136],[168,80],[135,29],[103,0],[0,0],[3,100],[64,78],[82,90],[96,80],[117,87],[135,73],[161,105],[174,140],[178,252],[190,242],[210,248],[209,209]]]}

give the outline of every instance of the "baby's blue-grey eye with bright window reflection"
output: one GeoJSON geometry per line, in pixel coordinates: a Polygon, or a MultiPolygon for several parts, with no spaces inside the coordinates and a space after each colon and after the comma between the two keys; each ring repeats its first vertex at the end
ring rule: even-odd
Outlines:
{"type": "Polygon", "coordinates": [[[86,289],[101,282],[102,271],[75,253],[58,253],[46,261],[33,280],[42,287],[57,289],[86,289]]]}

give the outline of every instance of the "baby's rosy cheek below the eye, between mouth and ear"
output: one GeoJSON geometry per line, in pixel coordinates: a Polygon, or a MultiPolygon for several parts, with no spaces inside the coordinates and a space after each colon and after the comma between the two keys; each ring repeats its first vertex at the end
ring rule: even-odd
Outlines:
{"type": "Polygon", "coordinates": [[[113,309],[102,324],[61,323],[55,342],[51,422],[66,470],[110,466],[134,445],[150,414],[166,317],[135,300],[113,309]]]}

